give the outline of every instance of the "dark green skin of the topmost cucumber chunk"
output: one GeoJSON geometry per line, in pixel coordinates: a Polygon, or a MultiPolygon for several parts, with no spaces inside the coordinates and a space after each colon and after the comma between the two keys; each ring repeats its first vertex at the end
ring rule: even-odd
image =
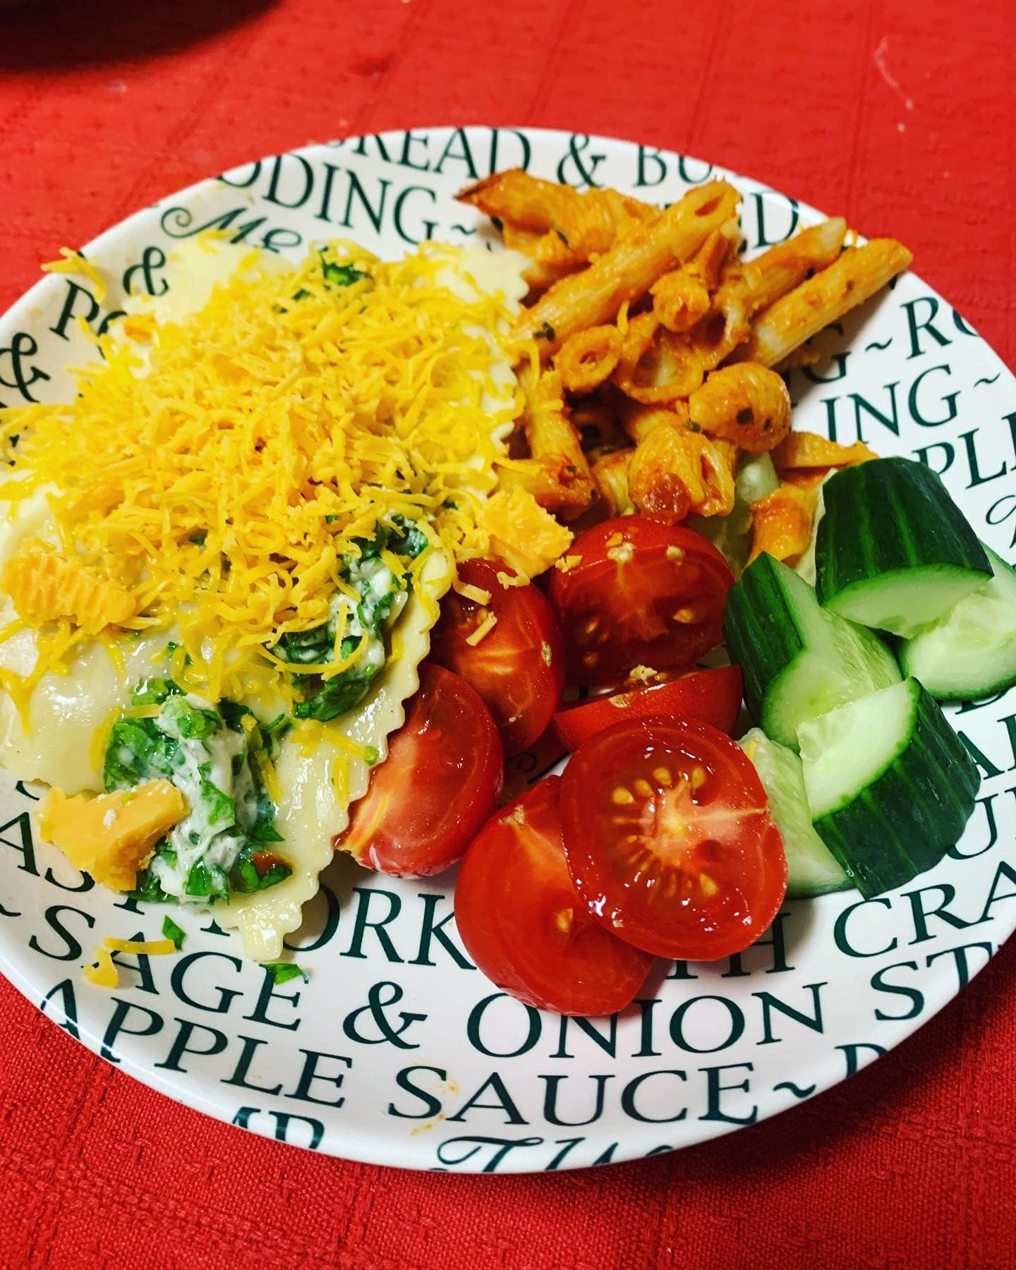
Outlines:
{"type": "Polygon", "coordinates": [[[843,467],[823,488],[826,513],[815,538],[815,591],[837,596],[897,569],[992,566],[941,478],[912,458],[872,458],[843,467]],[[919,541],[916,541],[916,536],[919,541]]]}

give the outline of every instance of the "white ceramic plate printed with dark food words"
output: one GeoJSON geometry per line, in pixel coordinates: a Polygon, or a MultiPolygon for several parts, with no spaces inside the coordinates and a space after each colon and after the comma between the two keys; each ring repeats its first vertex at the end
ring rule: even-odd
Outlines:
{"type": "MultiPolygon", "coordinates": [[[[464,241],[452,201],[495,168],[594,180],[673,202],[716,169],[629,142],[537,130],[422,128],[248,164],[132,216],[86,253],[121,279],[100,309],[48,277],[0,321],[0,401],[60,400],[126,290],[171,284],[166,258],[206,226],[287,255],[356,237],[394,257],[464,241]]],[[[739,177],[749,249],[819,215],[739,177]]],[[[56,248],[58,244],[52,244],[56,248]]],[[[822,337],[795,371],[795,424],[941,471],[970,521],[1013,555],[1016,384],[919,278],[822,337]]],[[[622,1016],[542,1015],[466,961],[452,880],[396,881],[338,860],[276,987],[207,917],[177,913],[174,958],[119,956],[121,986],[81,978],[107,935],[159,937],[163,909],[93,888],[33,836],[30,790],[0,784],[0,968],[61,1027],[146,1085],[315,1151],[411,1168],[572,1168],[673,1151],[775,1115],[898,1044],[982,969],[1016,925],[1016,691],[947,711],[984,781],[960,845],[903,892],[787,903],[740,958],[664,966],[622,1016]],[[665,975],[665,978],[664,978],[665,975]]],[[[523,767],[533,771],[530,756],[523,767]]],[[[491,897],[497,903],[497,897],[491,897]]]]}

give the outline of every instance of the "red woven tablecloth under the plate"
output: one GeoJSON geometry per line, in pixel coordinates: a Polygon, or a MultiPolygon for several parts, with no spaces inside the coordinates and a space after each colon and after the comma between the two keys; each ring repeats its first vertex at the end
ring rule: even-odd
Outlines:
{"type": "MultiPolygon", "coordinates": [[[[422,123],[631,137],[914,268],[1016,364],[1012,0],[27,0],[0,10],[0,309],[64,244],[244,159],[422,123]]],[[[0,980],[0,1264],[1011,1266],[1016,946],[777,1120],[533,1177],[343,1163],[112,1071],[0,980]]]]}

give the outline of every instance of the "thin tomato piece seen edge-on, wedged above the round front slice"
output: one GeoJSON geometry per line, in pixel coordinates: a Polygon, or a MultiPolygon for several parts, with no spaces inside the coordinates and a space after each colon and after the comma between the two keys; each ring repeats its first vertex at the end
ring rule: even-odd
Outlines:
{"type": "Polygon", "coordinates": [[[615,723],[660,715],[667,719],[701,719],[729,733],[740,714],[744,685],[739,665],[690,671],[664,683],[627,688],[593,697],[554,715],[561,743],[578,749],[583,740],[615,723]]]}

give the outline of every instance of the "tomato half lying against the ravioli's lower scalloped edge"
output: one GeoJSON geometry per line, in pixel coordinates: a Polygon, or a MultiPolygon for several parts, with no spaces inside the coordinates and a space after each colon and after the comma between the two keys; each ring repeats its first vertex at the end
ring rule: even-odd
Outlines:
{"type": "Polygon", "coordinates": [[[490,711],[465,679],[420,665],[389,757],[335,838],[368,869],[423,878],[455,864],[498,803],[504,757],[490,711]]]}

